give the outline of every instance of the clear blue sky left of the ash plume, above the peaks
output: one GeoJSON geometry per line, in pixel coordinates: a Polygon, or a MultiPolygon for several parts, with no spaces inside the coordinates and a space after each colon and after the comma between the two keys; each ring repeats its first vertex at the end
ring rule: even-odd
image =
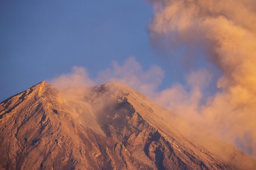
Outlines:
{"type": "Polygon", "coordinates": [[[143,69],[161,66],[169,86],[173,68],[150,48],[152,17],[144,0],[0,1],[0,101],[72,66],[93,78],[129,56],[143,69]]]}

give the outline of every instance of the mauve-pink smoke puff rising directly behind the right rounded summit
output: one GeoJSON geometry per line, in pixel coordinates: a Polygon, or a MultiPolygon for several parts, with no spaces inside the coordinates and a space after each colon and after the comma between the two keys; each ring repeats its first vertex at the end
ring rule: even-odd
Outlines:
{"type": "Polygon", "coordinates": [[[123,65],[116,61],[112,62],[111,68],[99,73],[96,82],[98,84],[110,81],[121,82],[141,93],[152,96],[152,93],[157,91],[158,86],[162,84],[163,78],[164,71],[159,66],[153,65],[144,71],[135,57],[128,57],[123,65]]]}

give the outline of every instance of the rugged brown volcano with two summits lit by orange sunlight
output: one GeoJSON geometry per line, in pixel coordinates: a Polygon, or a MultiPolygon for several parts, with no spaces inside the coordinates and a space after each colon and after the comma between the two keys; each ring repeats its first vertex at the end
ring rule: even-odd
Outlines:
{"type": "Polygon", "coordinates": [[[60,91],[43,81],[0,104],[0,170],[256,169],[199,131],[124,84],[60,91]]]}

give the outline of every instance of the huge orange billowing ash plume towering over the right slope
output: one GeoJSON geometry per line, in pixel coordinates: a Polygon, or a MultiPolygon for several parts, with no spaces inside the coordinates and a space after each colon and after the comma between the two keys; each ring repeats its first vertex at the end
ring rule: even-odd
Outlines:
{"type": "MultiPolygon", "coordinates": [[[[178,56],[181,63],[192,60],[186,64],[196,72],[197,65],[192,64],[209,62],[213,67],[206,69],[213,77],[218,76],[213,82],[218,90],[211,97],[203,96],[202,89],[187,79],[189,91],[186,85],[175,84],[161,93],[159,103],[165,102],[164,106],[187,118],[194,117],[194,121],[256,157],[256,2],[150,2],[155,10],[149,26],[152,46],[172,54],[183,48],[185,55],[178,56]],[[172,95],[177,98],[168,97],[172,95]],[[200,102],[203,98],[204,104],[200,102]]],[[[201,76],[193,80],[205,81],[201,76]]]]}

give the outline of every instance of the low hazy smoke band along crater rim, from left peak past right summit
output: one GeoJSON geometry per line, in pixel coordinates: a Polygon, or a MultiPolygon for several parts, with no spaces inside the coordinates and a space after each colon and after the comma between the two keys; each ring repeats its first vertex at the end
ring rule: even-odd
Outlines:
{"type": "Polygon", "coordinates": [[[111,67],[100,71],[98,76],[90,79],[84,67],[73,66],[72,72],[54,78],[50,83],[56,88],[74,86],[92,86],[107,82],[121,82],[141,93],[153,96],[162,84],[164,71],[159,66],[153,65],[144,71],[135,57],[128,57],[124,64],[113,61],[111,67]]]}

